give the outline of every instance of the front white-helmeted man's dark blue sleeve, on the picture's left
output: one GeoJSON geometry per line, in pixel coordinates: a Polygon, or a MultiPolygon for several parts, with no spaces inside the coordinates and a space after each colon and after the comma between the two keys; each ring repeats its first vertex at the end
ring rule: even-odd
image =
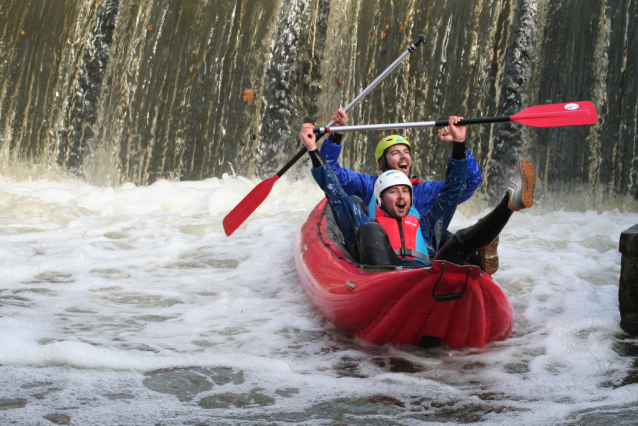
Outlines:
{"type": "Polygon", "coordinates": [[[357,247],[357,230],[371,219],[346,194],[329,164],[312,169],[312,177],[326,194],[343,237],[357,247]]]}

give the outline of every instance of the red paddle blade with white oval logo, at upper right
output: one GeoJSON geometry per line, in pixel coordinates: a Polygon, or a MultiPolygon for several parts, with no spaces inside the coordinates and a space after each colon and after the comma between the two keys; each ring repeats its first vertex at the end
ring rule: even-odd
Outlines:
{"type": "Polygon", "coordinates": [[[594,104],[583,101],[525,108],[510,120],[532,127],[585,126],[598,123],[598,114],[594,104]]]}

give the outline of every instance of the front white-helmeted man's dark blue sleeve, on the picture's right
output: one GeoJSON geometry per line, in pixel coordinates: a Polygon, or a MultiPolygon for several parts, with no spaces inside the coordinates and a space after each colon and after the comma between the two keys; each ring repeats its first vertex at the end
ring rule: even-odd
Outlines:
{"type": "Polygon", "coordinates": [[[441,235],[445,235],[465,189],[467,162],[467,159],[448,159],[442,188],[432,202],[431,208],[421,215],[421,232],[432,257],[436,255],[434,250],[435,225],[442,219],[441,235]]]}

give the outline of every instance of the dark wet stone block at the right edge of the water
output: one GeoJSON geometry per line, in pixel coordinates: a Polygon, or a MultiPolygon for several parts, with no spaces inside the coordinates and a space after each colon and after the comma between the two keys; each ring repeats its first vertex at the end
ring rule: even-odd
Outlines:
{"type": "Polygon", "coordinates": [[[622,253],[618,285],[620,326],[638,336],[638,225],[620,234],[619,250],[622,253]]]}

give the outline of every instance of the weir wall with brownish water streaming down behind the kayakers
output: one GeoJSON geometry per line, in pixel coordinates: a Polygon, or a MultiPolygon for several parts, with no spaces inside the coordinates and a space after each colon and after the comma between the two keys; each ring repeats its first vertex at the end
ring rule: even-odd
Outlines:
{"type": "MultiPolygon", "coordinates": [[[[544,203],[570,192],[605,208],[637,193],[637,17],[632,0],[7,0],[0,170],[97,185],[269,177],[300,149],[302,122],[327,123],[422,33],[349,123],[591,100],[597,126],[483,125],[468,142],[488,198],[526,156],[544,203]]],[[[416,173],[440,176],[434,132],[404,135],[416,173]]],[[[374,172],[380,137],[349,135],[343,164],[374,172]]]]}

